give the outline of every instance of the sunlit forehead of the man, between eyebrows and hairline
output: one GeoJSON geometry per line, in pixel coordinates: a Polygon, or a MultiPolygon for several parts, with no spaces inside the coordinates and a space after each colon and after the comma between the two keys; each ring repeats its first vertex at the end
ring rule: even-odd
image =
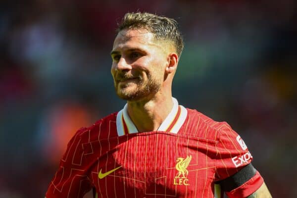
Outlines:
{"type": "Polygon", "coordinates": [[[144,29],[129,29],[120,31],[113,43],[113,50],[124,48],[159,47],[154,35],[144,29]]]}

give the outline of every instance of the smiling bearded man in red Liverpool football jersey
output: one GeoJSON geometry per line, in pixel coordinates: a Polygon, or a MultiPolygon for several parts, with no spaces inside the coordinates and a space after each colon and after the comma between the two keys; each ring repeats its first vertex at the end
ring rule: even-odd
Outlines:
{"type": "Polygon", "coordinates": [[[111,74],[127,104],[76,133],[47,198],[271,197],[240,136],[172,98],[182,50],[175,20],[125,15],[111,74]]]}

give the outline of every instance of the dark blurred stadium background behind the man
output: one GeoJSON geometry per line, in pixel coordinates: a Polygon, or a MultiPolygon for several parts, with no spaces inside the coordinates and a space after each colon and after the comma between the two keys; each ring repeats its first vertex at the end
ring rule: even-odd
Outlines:
{"type": "Polygon", "coordinates": [[[127,11],[175,18],[173,95],[245,139],[275,198],[297,197],[295,0],[1,0],[0,198],[41,198],[75,131],[119,110],[109,52],[127,11]]]}

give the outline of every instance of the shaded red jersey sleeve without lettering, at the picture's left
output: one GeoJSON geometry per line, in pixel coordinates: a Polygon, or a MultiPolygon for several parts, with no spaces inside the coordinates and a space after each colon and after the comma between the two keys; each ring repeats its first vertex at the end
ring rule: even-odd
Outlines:
{"type": "Polygon", "coordinates": [[[46,198],[83,198],[92,187],[87,176],[80,129],[67,145],[59,168],[49,184],[46,198]]]}

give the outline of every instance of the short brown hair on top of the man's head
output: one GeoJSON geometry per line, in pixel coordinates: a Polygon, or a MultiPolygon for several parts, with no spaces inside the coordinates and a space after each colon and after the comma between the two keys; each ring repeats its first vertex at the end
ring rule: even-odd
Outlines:
{"type": "Polygon", "coordinates": [[[118,24],[116,31],[119,33],[124,29],[138,28],[144,28],[154,34],[156,40],[173,42],[178,56],[182,54],[184,42],[176,20],[148,12],[128,12],[118,24]]]}

